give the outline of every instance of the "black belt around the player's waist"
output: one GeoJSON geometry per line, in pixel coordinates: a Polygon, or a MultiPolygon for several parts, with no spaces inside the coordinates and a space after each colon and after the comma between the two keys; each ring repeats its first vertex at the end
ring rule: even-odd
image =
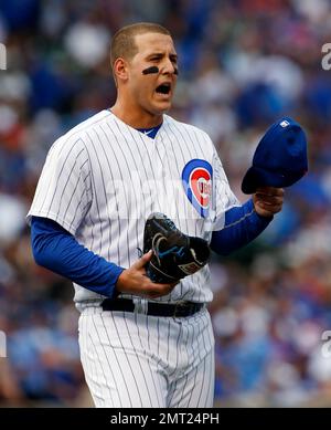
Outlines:
{"type": "MultiPolygon", "coordinates": [[[[104,311],[136,311],[136,304],[130,298],[105,298],[102,307],[104,311]]],[[[151,316],[185,317],[195,314],[203,307],[204,303],[194,302],[179,302],[177,304],[147,302],[147,310],[142,313],[151,316]]]]}

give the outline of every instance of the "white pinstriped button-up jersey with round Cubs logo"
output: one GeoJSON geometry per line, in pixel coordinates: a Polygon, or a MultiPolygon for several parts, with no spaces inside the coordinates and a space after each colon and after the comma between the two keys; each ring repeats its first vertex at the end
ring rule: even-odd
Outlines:
{"type": "MultiPolygon", "coordinates": [[[[129,268],[138,259],[137,249],[142,249],[151,212],[162,212],[182,232],[210,241],[212,230],[223,228],[225,210],[237,204],[204,132],[164,115],[151,139],[110,111],[102,111],[53,144],[28,220],[50,218],[90,251],[129,268]],[[199,178],[201,171],[206,177],[199,178]],[[197,189],[194,181],[190,186],[194,175],[197,189]],[[189,186],[185,176],[191,178],[189,186]]],[[[205,266],[157,301],[210,302],[209,279],[205,266]]],[[[104,298],[77,284],[74,287],[77,303],[104,298]]]]}

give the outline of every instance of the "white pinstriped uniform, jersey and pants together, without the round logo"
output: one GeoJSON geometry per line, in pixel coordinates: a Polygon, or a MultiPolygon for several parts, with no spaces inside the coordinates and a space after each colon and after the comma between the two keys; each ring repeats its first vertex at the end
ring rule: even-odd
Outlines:
{"type": "MultiPolygon", "coordinates": [[[[163,116],[154,139],[109,111],[93,116],[51,147],[28,214],[47,217],[87,249],[130,266],[142,249],[151,212],[163,212],[186,234],[210,241],[224,212],[238,201],[210,137],[163,116]],[[193,159],[213,169],[210,214],[185,195],[184,167],[193,159]]],[[[204,266],[157,302],[212,301],[204,266]]],[[[214,339],[206,311],[188,318],[106,313],[102,295],[74,284],[81,357],[98,407],[210,407],[214,339]]],[[[131,297],[130,295],[124,295],[131,297]]]]}

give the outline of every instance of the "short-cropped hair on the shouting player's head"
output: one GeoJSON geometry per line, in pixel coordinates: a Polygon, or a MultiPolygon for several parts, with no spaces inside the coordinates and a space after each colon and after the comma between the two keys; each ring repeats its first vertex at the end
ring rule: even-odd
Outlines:
{"type": "Polygon", "coordinates": [[[127,60],[132,59],[137,52],[138,46],[135,43],[135,36],[137,34],[145,33],[161,33],[171,36],[169,30],[160,24],[156,24],[152,22],[138,22],[136,24],[126,25],[118,30],[111,40],[110,48],[110,64],[111,69],[114,69],[114,64],[117,59],[125,57],[127,60]]]}

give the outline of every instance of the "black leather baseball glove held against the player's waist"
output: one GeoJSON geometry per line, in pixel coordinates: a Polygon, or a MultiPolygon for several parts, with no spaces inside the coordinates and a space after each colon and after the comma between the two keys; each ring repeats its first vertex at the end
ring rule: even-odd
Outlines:
{"type": "Polygon", "coordinates": [[[204,239],[182,233],[163,213],[152,213],[145,224],[143,253],[153,255],[146,266],[156,283],[173,283],[202,269],[210,258],[204,239]]]}

